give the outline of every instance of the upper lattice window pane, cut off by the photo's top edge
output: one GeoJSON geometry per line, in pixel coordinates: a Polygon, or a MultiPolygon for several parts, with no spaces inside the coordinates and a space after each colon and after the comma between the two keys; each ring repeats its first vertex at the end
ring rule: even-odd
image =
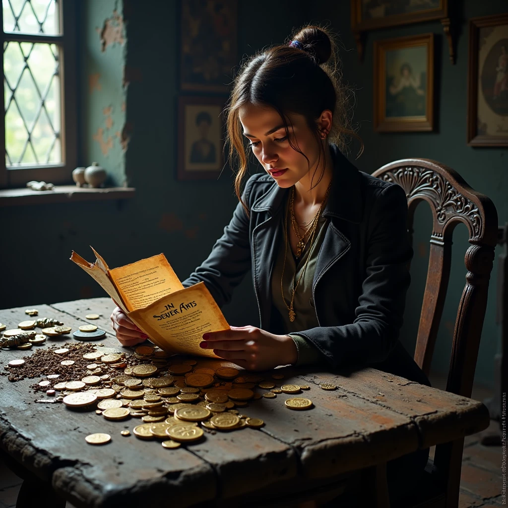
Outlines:
{"type": "Polygon", "coordinates": [[[60,33],[57,0],[2,0],[2,6],[6,32],[60,33]]]}

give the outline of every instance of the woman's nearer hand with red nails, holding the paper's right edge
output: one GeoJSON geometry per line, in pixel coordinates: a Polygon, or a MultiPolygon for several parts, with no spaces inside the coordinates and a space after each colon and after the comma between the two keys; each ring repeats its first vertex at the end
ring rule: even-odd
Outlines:
{"type": "Polygon", "coordinates": [[[231,330],[203,335],[203,349],[248,370],[267,370],[298,360],[298,350],[289,335],[274,335],[253,326],[232,326],[231,330]]]}

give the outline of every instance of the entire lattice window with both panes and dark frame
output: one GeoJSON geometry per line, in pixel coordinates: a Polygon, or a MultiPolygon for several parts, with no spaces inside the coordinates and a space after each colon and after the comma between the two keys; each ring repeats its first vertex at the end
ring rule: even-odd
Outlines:
{"type": "Polygon", "coordinates": [[[76,166],[75,0],[3,0],[0,187],[71,182],[76,166]]]}

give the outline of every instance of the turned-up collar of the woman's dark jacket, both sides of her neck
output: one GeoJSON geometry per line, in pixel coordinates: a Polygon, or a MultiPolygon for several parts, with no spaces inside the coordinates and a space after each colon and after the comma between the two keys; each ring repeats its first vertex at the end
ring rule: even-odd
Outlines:
{"type": "MultiPolygon", "coordinates": [[[[362,193],[360,173],[347,158],[342,155],[335,144],[330,144],[334,166],[334,178],[330,189],[330,197],[323,212],[324,216],[339,217],[354,224],[362,220],[362,193]]],[[[278,211],[288,189],[279,187],[275,182],[252,206],[254,212],[278,211]]]]}

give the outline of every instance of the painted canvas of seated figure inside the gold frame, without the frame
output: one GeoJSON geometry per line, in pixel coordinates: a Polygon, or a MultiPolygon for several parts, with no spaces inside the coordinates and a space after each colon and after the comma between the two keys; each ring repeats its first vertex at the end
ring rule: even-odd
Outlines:
{"type": "Polygon", "coordinates": [[[427,51],[425,46],[386,53],[386,117],[424,117],[427,51]]]}

